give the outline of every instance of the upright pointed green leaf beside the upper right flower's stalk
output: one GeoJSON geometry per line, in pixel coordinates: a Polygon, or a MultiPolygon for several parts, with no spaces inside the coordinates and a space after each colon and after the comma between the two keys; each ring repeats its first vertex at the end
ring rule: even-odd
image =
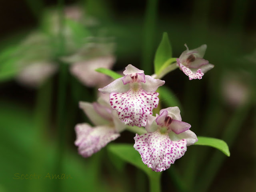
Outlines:
{"type": "Polygon", "coordinates": [[[162,41],[156,50],[154,59],[154,68],[156,74],[160,72],[161,67],[170,58],[172,58],[172,46],[169,42],[168,34],[164,32],[162,41]]]}

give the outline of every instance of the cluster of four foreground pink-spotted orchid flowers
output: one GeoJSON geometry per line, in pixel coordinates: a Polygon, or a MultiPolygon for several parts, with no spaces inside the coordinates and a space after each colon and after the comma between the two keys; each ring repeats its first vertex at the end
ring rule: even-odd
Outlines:
{"type": "MultiPolygon", "coordinates": [[[[186,46],[186,44],[185,44],[186,46]]],[[[176,68],[192,79],[202,79],[204,73],[214,65],[204,60],[206,45],[182,52],[177,58],[176,68]]],[[[145,75],[131,64],[126,66],[124,76],[117,78],[107,86],[98,89],[109,94],[108,100],[99,98],[98,102],[80,102],[82,108],[94,127],[87,123],[76,125],[78,152],[89,157],[98,152],[120,132],[129,126],[145,127],[144,134],[134,137],[134,148],[142,162],[153,171],[162,172],[170,168],[176,159],[184,156],[187,146],[198,141],[191,125],[183,122],[177,106],[161,109],[153,116],[153,109],[158,108],[159,86],[165,81],[145,75]]]]}

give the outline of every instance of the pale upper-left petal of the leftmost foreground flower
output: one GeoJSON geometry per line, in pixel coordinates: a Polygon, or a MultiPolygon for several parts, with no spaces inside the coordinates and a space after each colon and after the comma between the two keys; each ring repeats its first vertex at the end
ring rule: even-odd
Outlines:
{"type": "Polygon", "coordinates": [[[91,122],[94,125],[99,126],[99,125],[109,124],[109,120],[100,116],[100,114],[98,114],[98,112],[96,112],[96,110],[94,109],[94,107],[91,103],[80,101],[79,107],[84,111],[86,116],[88,116],[88,118],[91,120],[91,122]]]}

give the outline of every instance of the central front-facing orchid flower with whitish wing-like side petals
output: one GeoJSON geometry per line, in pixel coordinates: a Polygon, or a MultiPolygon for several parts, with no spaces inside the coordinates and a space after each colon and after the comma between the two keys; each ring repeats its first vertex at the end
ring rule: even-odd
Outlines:
{"type": "Polygon", "coordinates": [[[100,88],[109,93],[109,103],[117,111],[119,119],[129,126],[145,126],[153,108],[157,108],[159,93],[155,92],[165,81],[145,75],[143,70],[129,64],[124,77],[100,88]]]}

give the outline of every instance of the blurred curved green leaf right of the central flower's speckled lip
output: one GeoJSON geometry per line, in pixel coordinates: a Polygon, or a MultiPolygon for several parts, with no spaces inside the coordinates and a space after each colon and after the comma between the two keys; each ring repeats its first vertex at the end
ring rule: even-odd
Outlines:
{"type": "Polygon", "coordinates": [[[164,104],[166,104],[167,107],[178,106],[182,111],[182,106],[180,104],[180,101],[176,97],[176,94],[174,94],[168,87],[161,86],[158,88],[157,91],[159,92],[160,97],[159,102],[163,102],[164,104]]]}

